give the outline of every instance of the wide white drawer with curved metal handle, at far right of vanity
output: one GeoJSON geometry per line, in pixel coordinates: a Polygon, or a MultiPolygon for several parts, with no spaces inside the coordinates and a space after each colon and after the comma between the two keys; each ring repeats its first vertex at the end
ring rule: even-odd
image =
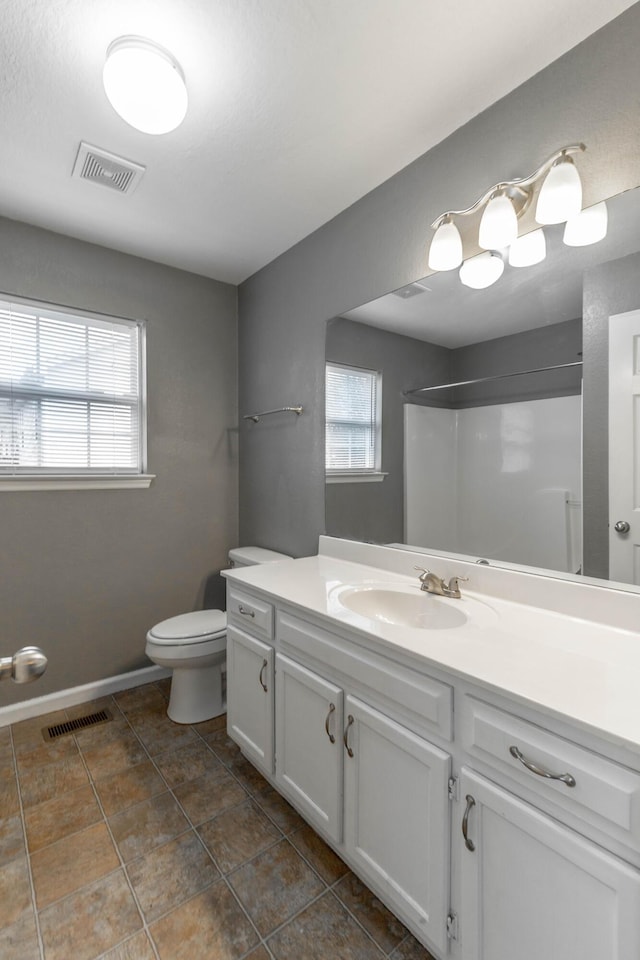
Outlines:
{"type": "Polygon", "coordinates": [[[462,706],[462,737],[469,754],[533,790],[544,803],[640,849],[640,774],[470,696],[462,706]],[[545,773],[568,775],[575,784],[545,773]]]}

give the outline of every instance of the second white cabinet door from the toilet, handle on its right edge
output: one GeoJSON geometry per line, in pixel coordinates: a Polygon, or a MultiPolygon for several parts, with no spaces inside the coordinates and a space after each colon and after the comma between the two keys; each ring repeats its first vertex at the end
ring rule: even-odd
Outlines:
{"type": "Polygon", "coordinates": [[[276,656],[276,781],[333,840],[342,839],[342,700],[339,687],[276,656]]]}

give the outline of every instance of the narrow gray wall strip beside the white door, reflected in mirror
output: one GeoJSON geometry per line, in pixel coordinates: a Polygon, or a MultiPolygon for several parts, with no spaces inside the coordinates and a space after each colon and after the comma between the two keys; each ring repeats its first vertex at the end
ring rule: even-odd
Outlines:
{"type": "Polygon", "coordinates": [[[584,278],[584,572],[609,576],[609,317],[640,307],[640,253],[584,278]]]}

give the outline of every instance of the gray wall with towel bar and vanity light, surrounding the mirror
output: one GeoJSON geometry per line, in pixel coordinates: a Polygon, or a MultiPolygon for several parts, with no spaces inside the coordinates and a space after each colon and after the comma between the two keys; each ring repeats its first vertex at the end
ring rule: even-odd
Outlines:
{"type": "Polygon", "coordinates": [[[242,284],[240,412],[305,408],[269,428],[243,428],[242,543],[316,552],[324,530],[326,321],[423,277],[429,224],[439,213],[576,140],[587,144],[597,185],[585,203],[640,183],[639,43],[636,4],[242,284]]]}

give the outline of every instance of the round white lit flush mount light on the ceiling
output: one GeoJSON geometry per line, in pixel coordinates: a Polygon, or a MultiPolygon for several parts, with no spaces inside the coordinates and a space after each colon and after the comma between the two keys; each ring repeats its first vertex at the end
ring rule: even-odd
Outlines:
{"type": "Polygon", "coordinates": [[[102,73],[113,109],[136,130],[175,130],[187,112],[187,88],[178,61],[144,37],[119,37],[109,44],[102,73]]]}

